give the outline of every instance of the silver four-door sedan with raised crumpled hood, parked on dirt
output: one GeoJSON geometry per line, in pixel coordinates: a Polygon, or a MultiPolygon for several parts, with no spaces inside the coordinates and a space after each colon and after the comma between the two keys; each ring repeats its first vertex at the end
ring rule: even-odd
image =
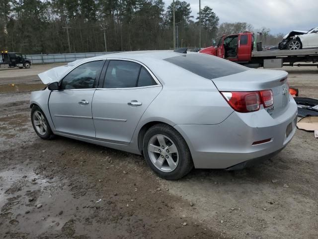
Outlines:
{"type": "Polygon", "coordinates": [[[77,60],[39,74],[35,132],[144,155],[160,177],[241,169],[282,150],[296,130],[287,73],[201,53],[141,51],[77,60]]]}

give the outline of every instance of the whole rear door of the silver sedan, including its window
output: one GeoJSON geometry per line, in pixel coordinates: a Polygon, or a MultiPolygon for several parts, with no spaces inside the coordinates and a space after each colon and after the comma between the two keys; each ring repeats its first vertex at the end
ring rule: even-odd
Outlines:
{"type": "Polygon", "coordinates": [[[142,115],[162,89],[144,65],[109,60],[102,85],[96,89],[92,116],[96,139],[129,144],[142,115]]]}

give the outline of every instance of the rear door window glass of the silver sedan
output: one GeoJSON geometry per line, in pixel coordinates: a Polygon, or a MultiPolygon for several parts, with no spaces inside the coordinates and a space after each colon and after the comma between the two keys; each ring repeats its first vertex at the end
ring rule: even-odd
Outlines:
{"type": "Polygon", "coordinates": [[[145,69],[136,62],[111,60],[105,74],[103,88],[133,88],[156,85],[145,69]]]}

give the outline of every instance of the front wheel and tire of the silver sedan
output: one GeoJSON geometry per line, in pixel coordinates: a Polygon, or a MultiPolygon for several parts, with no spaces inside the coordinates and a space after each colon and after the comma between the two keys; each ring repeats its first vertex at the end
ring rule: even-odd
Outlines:
{"type": "Polygon", "coordinates": [[[51,139],[54,134],[43,111],[38,106],[33,106],[31,110],[31,122],[36,134],[42,139],[51,139]]]}

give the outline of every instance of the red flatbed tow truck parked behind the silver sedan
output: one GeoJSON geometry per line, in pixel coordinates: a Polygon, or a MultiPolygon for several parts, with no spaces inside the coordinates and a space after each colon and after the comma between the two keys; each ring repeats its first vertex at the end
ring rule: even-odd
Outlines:
{"type": "MultiPolygon", "coordinates": [[[[283,65],[294,66],[296,62],[318,62],[318,48],[257,51],[257,49],[254,49],[254,39],[254,33],[252,32],[242,32],[228,36],[223,35],[216,46],[204,48],[199,52],[222,57],[230,61],[254,68],[277,68],[283,67],[283,65]]],[[[318,65],[297,64],[297,66],[318,65]]]]}

